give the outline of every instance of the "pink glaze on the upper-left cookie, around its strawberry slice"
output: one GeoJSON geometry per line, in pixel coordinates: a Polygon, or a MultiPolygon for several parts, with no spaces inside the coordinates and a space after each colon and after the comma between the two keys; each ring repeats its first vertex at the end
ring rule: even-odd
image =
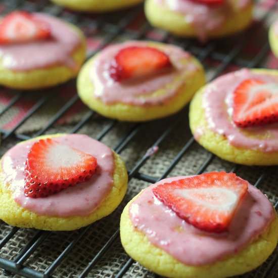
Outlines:
{"type": "Polygon", "coordinates": [[[0,45],[0,58],[5,68],[14,71],[34,70],[63,65],[78,70],[72,53],[80,46],[78,34],[63,21],[36,13],[34,16],[47,22],[51,38],[41,41],[0,45]]]}

